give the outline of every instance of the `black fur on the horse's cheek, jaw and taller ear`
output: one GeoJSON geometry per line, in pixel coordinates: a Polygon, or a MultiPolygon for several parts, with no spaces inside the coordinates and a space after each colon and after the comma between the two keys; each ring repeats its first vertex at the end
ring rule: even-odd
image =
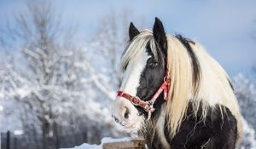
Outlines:
{"type": "MultiPolygon", "coordinates": [[[[154,57],[148,44],[146,48],[148,55],[151,55],[151,58],[147,61],[147,65],[140,77],[140,85],[137,88],[137,97],[142,100],[150,100],[157,89],[160,88],[166,75],[167,38],[164,26],[158,18],[155,18],[153,36],[158,51],[158,59],[154,57]]],[[[155,117],[156,113],[160,112],[160,106],[165,102],[162,97],[163,94],[161,94],[159,99],[154,103],[156,112],[153,113],[152,117],[155,117]]],[[[142,107],[137,106],[137,110],[147,117],[147,113],[142,107]]]]}

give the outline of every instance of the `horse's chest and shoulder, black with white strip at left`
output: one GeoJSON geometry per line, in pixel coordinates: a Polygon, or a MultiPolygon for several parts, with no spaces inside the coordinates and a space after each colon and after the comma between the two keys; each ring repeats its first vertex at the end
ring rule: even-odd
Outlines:
{"type": "MultiPolygon", "coordinates": [[[[237,137],[236,118],[228,108],[223,106],[223,110],[223,116],[218,108],[210,110],[205,121],[200,119],[200,112],[197,117],[187,116],[173,138],[167,129],[166,117],[160,117],[154,125],[148,126],[145,135],[148,148],[234,149],[237,137]]],[[[187,114],[191,115],[189,112],[187,114]]]]}

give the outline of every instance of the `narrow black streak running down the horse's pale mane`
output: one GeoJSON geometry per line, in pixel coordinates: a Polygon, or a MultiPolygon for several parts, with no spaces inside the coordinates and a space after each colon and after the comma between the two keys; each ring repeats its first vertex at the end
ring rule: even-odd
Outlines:
{"type": "Polygon", "coordinates": [[[189,44],[189,43],[192,43],[192,44],[195,44],[195,43],[187,38],[182,37],[181,35],[176,35],[176,37],[181,43],[183,43],[183,46],[187,49],[189,56],[191,58],[191,61],[192,61],[191,65],[193,67],[193,85],[195,89],[194,92],[196,95],[196,92],[198,90],[198,86],[200,83],[201,70],[200,70],[200,65],[197,60],[197,57],[189,44]]]}

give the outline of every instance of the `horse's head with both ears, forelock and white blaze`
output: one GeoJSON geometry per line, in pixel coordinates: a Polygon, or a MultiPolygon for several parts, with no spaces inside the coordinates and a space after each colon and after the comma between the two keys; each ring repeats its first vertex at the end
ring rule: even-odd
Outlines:
{"type": "Polygon", "coordinates": [[[164,83],[167,40],[164,27],[157,18],[153,32],[139,32],[131,23],[129,35],[130,43],[121,61],[123,78],[113,104],[113,118],[125,129],[139,129],[150,117],[148,112],[151,114],[155,109],[154,117],[165,101],[160,91],[154,105],[149,102],[164,83]]]}

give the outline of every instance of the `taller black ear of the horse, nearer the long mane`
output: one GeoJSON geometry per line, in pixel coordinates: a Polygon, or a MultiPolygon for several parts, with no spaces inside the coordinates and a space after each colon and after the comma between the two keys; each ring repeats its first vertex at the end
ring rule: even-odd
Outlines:
{"type": "Polygon", "coordinates": [[[154,21],[153,35],[159,48],[162,49],[163,52],[166,54],[167,52],[166,32],[162,22],[157,17],[155,17],[155,21],[154,21]]]}

